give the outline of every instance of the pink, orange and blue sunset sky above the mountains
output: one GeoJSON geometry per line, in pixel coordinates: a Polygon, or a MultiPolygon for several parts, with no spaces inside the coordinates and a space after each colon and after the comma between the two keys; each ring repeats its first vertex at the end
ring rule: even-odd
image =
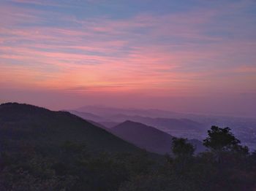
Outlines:
{"type": "Polygon", "coordinates": [[[0,0],[0,102],[256,117],[254,0],[0,0]]]}

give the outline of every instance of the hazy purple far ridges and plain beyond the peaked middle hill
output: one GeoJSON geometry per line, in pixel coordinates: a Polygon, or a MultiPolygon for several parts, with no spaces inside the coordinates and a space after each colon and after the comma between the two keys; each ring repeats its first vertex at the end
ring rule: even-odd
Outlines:
{"type": "MultiPolygon", "coordinates": [[[[160,109],[118,109],[107,106],[83,106],[78,112],[95,114],[94,121],[106,128],[131,120],[153,126],[172,136],[203,140],[211,125],[230,127],[233,133],[249,148],[256,149],[256,116],[230,117],[214,114],[190,114],[160,109]]],[[[81,116],[82,117],[82,116],[81,116]]],[[[86,117],[83,117],[86,119],[86,117]]]]}

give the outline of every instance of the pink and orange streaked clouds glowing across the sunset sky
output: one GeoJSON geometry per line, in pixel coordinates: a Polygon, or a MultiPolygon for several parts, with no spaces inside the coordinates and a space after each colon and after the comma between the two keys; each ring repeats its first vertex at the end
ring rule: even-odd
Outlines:
{"type": "MultiPolygon", "coordinates": [[[[239,78],[234,75],[225,81],[225,73],[255,73],[248,68],[230,70],[237,62],[232,55],[253,55],[255,44],[204,33],[202,25],[211,22],[219,11],[138,15],[125,20],[64,17],[78,26],[57,28],[19,26],[24,20],[42,21],[41,13],[33,9],[1,10],[6,19],[0,31],[0,69],[5,71],[0,82],[10,86],[79,93],[195,95],[211,88],[234,90],[231,81],[239,78]],[[11,28],[8,23],[12,23],[11,28]],[[130,32],[135,29],[145,29],[146,34],[130,32]],[[159,42],[162,36],[183,41],[159,42]],[[13,66],[13,62],[19,64],[13,66]]],[[[246,82],[244,79],[240,84],[246,82]]]]}

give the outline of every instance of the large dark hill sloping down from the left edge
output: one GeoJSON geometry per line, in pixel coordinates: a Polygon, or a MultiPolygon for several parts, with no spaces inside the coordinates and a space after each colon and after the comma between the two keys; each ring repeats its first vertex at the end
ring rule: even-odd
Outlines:
{"type": "MultiPolygon", "coordinates": [[[[138,147],[69,112],[53,112],[27,104],[0,105],[0,149],[4,142],[58,148],[65,141],[83,142],[93,152],[134,152],[138,147]]],[[[14,148],[14,147],[12,147],[14,148]]]]}

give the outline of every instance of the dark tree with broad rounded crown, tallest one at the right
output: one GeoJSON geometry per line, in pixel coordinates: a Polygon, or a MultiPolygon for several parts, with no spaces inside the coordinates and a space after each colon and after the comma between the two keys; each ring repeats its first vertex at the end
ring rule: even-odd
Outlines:
{"type": "Polygon", "coordinates": [[[203,140],[203,145],[214,152],[219,163],[222,163],[222,157],[227,152],[235,152],[242,155],[248,154],[248,148],[241,146],[241,142],[236,139],[230,130],[230,128],[211,126],[211,130],[208,130],[208,137],[203,140]]]}

